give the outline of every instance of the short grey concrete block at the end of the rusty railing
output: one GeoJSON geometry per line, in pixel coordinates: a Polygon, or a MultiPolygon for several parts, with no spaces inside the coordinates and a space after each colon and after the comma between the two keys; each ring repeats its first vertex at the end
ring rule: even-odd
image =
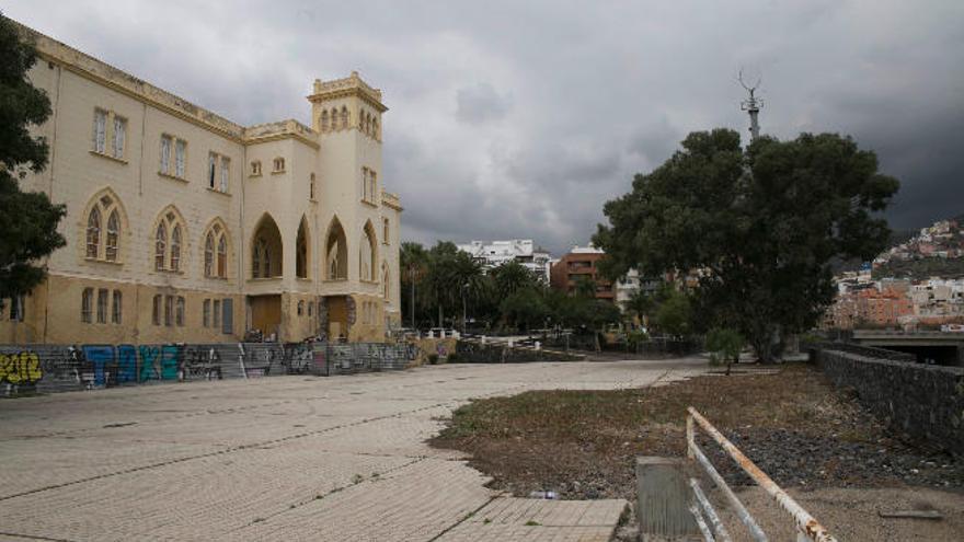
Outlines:
{"type": "Polygon", "coordinates": [[[636,519],[640,540],[687,540],[699,537],[689,506],[685,460],[678,458],[636,458],[636,519]]]}

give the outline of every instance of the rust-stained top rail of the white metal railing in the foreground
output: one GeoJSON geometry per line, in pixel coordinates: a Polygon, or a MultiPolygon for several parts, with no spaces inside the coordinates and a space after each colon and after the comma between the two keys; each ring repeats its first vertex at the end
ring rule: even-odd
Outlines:
{"type": "MultiPolygon", "coordinates": [[[[837,542],[827,530],[822,526],[813,516],[810,515],[806,510],[800,506],[796,500],[793,499],[790,495],[787,494],[776,482],[773,482],[770,476],[768,476],[764,471],[760,470],[759,466],[754,464],[753,461],[749,460],[746,455],[739,451],[736,446],[733,445],[726,437],[723,436],[715,427],[713,427],[710,422],[707,420],[696,408],[692,406],[687,408],[687,418],[686,418],[686,440],[687,440],[687,455],[690,458],[697,457],[700,460],[700,463],[703,466],[709,466],[712,469],[712,465],[709,465],[709,460],[705,459],[705,455],[702,453],[700,448],[696,443],[696,427],[693,426],[693,422],[699,424],[700,428],[702,428],[707,434],[709,434],[713,440],[719,443],[726,453],[730,454],[731,458],[743,469],[744,472],[749,475],[760,487],[764,488],[767,493],[773,497],[780,506],[790,512],[793,516],[793,520],[797,531],[797,540],[812,540],[816,542],[837,542]],[[705,460],[705,461],[703,461],[705,460]]],[[[711,477],[713,473],[715,473],[715,469],[712,470],[711,477]]],[[[719,476],[719,473],[716,474],[719,476]]],[[[714,477],[715,480],[715,477],[714,477]]],[[[722,480],[722,478],[721,478],[722,480]]],[[[728,489],[728,487],[723,484],[721,488],[728,489]]],[[[726,493],[724,491],[724,493],[726,493]]],[[[732,492],[730,492],[732,493],[732,492]]],[[[734,495],[735,497],[735,495],[734,495]]],[[[742,505],[741,505],[742,506],[742,505]]],[[[759,528],[757,528],[759,529],[759,528]]],[[[750,528],[753,531],[753,529],[750,528]]]]}

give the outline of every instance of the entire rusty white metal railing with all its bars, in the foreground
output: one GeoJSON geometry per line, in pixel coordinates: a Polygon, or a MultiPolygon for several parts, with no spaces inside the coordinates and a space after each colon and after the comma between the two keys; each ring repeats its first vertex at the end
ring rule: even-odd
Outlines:
{"type": "MultiPolygon", "coordinates": [[[[713,427],[710,422],[707,420],[696,408],[690,406],[687,408],[686,416],[686,449],[687,457],[690,459],[696,459],[700,466],[707,472],[710,478],[722,489],[723,495],[726,499],[733,505],[733,508],[736,510],[737,516],[741,521],[746,526],[749,530],[750,537],[758,542],[766,542],[767,535],[754,520],[753,516],[743,506],[743,503],[739,501],[739,498],[736,497],[736,494],[730,488],[726,482],[723,480],[723,476],[716,471],[703,451],[700,449],[699,445],[696,442],[696,429],[697,425],[701,429],[703,429],[716,443],[720,445],[721,448],[746,472],[749,477],[754,480],[760,487],[764,488],[771,497],[773,497],[777,503],[783,508],[790,516],[793,518],[794,527],[796,528],[796,541],[805,542],[805,541],[816,541],[816,542],[837,542],[827,530],[806,510],[801,507],[796,500],[793,499],[790,495],[787,494],[776,482],[773,482],[770,476],[760,470],[753,461],[749,460],[746,455],[739,451],[736,446],[733,445],[726,437],[723,436],[715,427],[713,427]]],[[[730,534],[726,532],[723,524],[720,522],[720,519],[713,510],[712,505],[709,499],[707,499],[702,489],[699,487],[699,483],[696,480],[690,480],[690,486],[693,488],[693,494],[696,496],[697,505],[691,508],[693,512],[693,517],[697,520],[697,524],[700,528],[700,531],[703,533],[705,540],[730,540],[730,534]],[[709,522],[707,519],[709,519],[709,522]],[[710,528],[712,527],[712,532],[710,532],[710,528]]]]}

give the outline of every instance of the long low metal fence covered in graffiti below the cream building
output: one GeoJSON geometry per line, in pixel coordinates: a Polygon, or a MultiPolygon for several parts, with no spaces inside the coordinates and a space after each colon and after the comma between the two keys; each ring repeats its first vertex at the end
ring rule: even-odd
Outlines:
{"type": "Polygon", "coordinates": [[[0,395],[403,369],[411,355],[380,343],[0,345],[0,395]]]}

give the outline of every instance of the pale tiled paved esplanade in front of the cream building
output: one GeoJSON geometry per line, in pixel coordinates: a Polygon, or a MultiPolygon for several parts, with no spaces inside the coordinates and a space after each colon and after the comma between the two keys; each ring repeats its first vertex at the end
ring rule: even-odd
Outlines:
{"type": "Polygon", "coordinates": [[[0,540],[608,540],[624,501],[508,498],[424,440],[471,397],[702,367],[452,365],[0,401],[0,540]]]}

